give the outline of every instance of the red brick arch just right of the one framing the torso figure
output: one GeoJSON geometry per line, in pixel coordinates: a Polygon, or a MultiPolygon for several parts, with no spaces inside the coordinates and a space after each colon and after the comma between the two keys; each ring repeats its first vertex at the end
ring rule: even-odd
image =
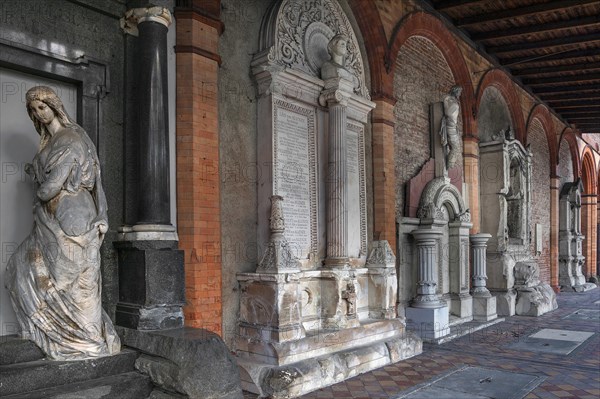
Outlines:
{"type": "Polygon", "coordinates": [[[515,132],[515,138],[525,144],[524,138],[526,130],[523,111],[521,110],[521,100],[517,95],[513,81],[501,70],[490,69],[481,77],[481,80],[477,85],[475,114],[477,115],[479,113],[483,93],[485,92],[485,89],[490,86],[496,88],[502,94],[502,97],[504,97],[513,123],[512,127],[515,132]]]}

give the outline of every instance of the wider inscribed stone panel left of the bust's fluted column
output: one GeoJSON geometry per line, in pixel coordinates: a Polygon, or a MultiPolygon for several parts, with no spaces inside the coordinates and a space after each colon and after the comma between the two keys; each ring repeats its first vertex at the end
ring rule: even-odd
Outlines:
{"type": "Polygon", "coordinates": [[[317,248],[315,109],[273,103],[274,190],[283,197],[285,237],[299,259],[317,248]]]}

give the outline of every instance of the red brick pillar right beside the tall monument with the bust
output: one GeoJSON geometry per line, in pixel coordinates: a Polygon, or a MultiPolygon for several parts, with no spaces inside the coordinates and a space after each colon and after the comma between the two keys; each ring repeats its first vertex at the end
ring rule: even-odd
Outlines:
{"type": "Polygon", "coordinates": [[[373,100],[373,230],[374,240],[387,240],[396,252],[396,168],[394,164],[394,100],[373,100]]]}

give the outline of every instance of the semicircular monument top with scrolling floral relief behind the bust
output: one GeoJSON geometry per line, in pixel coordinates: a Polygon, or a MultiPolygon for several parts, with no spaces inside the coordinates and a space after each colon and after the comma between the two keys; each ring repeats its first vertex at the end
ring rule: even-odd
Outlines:
{"type": "Polygon", "coordinates": [[[346,69],[356,76],[355,93],[370,100],[358,40],[348,17],[336,0],[279,0],[263,20],[260,52],[268,61],[320,78],[329,59],[327,44],[336,34],[346,35],[346,69]]]}

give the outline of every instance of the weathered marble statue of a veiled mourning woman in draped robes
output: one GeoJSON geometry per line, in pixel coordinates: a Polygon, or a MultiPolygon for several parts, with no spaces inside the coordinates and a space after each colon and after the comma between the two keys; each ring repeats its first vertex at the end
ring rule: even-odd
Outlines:
{"type": "Polygon", "coordinates": [[[108,220],[96,149],[52,89],[36,86],[26,100],[40,135],[26,167],[35,182],[34,224],[6,270],[21,336],[54,360],[117,353],[119,337],[100,295],[108,220]]]}

